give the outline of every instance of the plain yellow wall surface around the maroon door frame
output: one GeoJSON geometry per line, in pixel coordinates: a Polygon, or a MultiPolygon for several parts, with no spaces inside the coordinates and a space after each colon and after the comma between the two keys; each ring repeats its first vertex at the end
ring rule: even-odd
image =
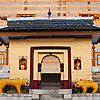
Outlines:
{"type": "MultiPolygon", "coordinates": [[[[10,39],[9,43],[10,78],[30,77],[30,47],[65,46],[71,47],[72,80],[92,79],[90,38],[31,38],[10,39]],[[19,56],[27,56],[27,70],[19,70],[19,56]],[[81,70],[74,70],[74,57],[81,57],[81,70]]],[[[37,58],[36,58],[37,59],[37,58]]]]}

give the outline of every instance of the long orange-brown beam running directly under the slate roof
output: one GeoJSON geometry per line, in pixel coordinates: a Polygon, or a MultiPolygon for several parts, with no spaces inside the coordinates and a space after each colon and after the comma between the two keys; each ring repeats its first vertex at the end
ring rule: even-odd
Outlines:
{"type": "Polygon", "coordinates": [[[5,35],[41,35],[41,34],[70,34],[70,35],[72,35],[72,34],[78,34],[78,35],[92,35],[92,34],[100,34],[100,31],[67,31],[67,30],[59,30],[59,31],[52,31],[52,30],[48,30],[48,31],[16,31],[16,32],[14,32],[14,31],[4,31],[4,32],[0,32],[0,35],[3,35],[3,36],[5,36],[5,35]]]}

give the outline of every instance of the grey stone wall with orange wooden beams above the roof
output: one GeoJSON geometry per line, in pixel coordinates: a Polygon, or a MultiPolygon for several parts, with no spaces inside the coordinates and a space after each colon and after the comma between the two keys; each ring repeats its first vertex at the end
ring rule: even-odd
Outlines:
{"type": "Polygon", "coordinates": [[[47,16],[49,8],[54,17],[99,16],[100,0],[0,0],[0,8],[0,16],[18,13],[47,16]]]}

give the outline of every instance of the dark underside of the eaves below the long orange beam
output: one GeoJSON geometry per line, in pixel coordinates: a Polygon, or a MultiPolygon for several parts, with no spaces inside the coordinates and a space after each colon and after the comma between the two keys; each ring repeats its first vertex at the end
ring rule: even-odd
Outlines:
{"type": "Polygon", "coordinates": [[[48,34],[48,35],[9,35],[0,36],[2,44],[9,44],[9,39],[27,39],[27,38],[91,38],[93,44],[100,42],[100,35],[77,35],[77,34],[48,34]]]}

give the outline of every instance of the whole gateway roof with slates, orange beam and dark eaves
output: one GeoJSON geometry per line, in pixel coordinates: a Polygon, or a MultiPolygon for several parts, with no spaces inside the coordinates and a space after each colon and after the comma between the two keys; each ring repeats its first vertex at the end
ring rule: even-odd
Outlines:
{"type": "Polygon", "coordinates": [[[1,27],[1,29],[4,30],[0,30],[0,40],[2,41],[3,44],[9,44],[9,39],[27,39],[27,38],[91,38],[93,44],[97,44],[98,42],[100,42],[99,41],[100,26],[93,24],[92,17],[73,17],[73,18],[59,17],[59,18],[51,18],[50,20],[48,18],[45,19],[37,17],[15,18],[15,19],[10,18],[7,21],[8,21],[7,25],[1,27]],[[38,24],[37,26],[35,25],[36,24],[35,22],[38,24]],[[36,26],[35,28],[33,24],[36,26]],[[44,28],[43,24],[47,24],[46,28],[44,28]],[[52,28],[50,27],[48,28],[48,26],[50,26],[51,24],[52,28]],[[24,27],[25,30],[22,30],[24,29],[23,25],[24,26],[26,25],[24,27]],[[39,25],[41,27],[37,29],[39,25]],[[59,25],[63,27],[61,28],[59,25]],[[79,26],[76,27],[76,25],[79,26]],[[56,26],[58,28],[56,28],[56,26]],[[27,27],[29,27],[29,29],[27,29],[27,27]],[[12,29],[10,30],[10,28],[12,29]]]}

